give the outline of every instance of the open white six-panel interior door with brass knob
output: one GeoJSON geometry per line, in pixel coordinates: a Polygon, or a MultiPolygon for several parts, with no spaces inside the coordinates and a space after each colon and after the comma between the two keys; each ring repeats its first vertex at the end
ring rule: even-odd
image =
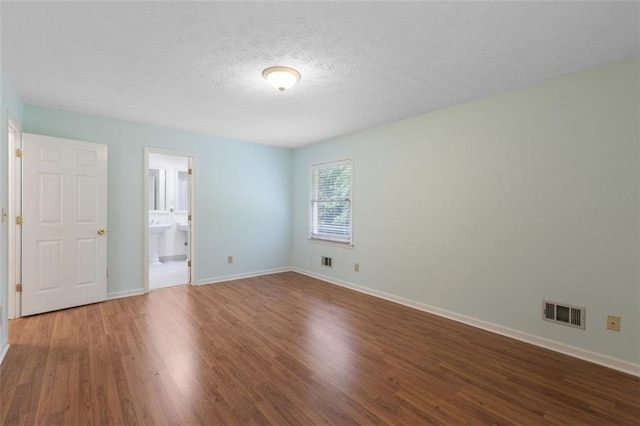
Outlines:
{"type": "Polygon", "coordinates": [[[107,147],[23,133],[22,314],[107,296],[107,147]]]}

